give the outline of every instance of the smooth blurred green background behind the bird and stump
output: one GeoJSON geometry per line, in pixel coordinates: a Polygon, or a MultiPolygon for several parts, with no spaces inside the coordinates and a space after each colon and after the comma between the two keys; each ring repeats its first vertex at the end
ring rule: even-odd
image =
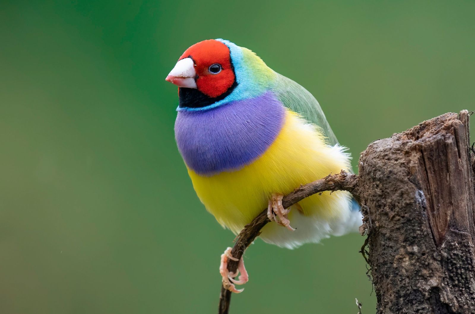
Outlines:
{"type": "MultiPolygon", "coordinates": [[[[474,109],[474,1],[1,1],[1,313],[215,313],[234,236],[177,151],[181,53],[227,38],[312,92],[356,161],[474,109]]],[[[374,313],[358,234],[261,240],[231,313],[374,313]],[[277,262],[284,271],[269,267],[277,262]]]]}

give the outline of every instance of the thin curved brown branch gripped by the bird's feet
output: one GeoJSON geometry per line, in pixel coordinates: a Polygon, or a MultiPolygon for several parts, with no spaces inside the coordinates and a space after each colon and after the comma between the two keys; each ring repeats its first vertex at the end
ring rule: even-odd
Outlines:
{"type": "MultiPolygon", "coordinates": [[[[314,181],[306,185],[300,185],[294,192],[284,196],[282,204],[284,208],[288,208],[295,203],[303,200],[310,195],[321,193],[324,191],[348,191],[352,193],[358,184],[358,176],[344,172],[343,170],[337,175],[328,175],[323,179],[314,181]]],[[[261,229],[269,222],[267,218],[267,208],[263,210],[256,218],[248,223],[244,229],[239,232],[235,239],[234,247],[231,255],[240,259],[246,248],[254,241],[260,234],[261,229]]],[[[230,273],[236,273],[237,261],[228,260],[228,270],[230,273]]],[[[221,294],[219,295],[219,310],[218,314],[228,314],[229,304],[231,302],[231,292],[221,285],[221,294]]]]}

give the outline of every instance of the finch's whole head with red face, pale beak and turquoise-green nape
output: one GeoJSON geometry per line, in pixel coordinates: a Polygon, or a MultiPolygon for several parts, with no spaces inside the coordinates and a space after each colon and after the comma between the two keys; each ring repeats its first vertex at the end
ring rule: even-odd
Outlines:
{"type": "Polygon", "coordinates": [[[206,110],[264,90],[275,73],[249,49],[203,40],[178,59],[166,81],[179,87],[178,110],[206,110]]]}

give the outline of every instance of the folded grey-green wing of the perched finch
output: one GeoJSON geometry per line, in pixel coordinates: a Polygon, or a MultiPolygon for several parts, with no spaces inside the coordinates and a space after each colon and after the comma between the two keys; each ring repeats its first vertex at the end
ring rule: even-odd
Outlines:
{"type": "Polygon", "coordinates": [[[276,85],[272,90],[285,107],[320,127],[325,137],[327,137],[329,145],[333,146],[338,143],[322,108],[320,108],[320,104],[309,91],[280,74],[277,74],[276,85]]]}

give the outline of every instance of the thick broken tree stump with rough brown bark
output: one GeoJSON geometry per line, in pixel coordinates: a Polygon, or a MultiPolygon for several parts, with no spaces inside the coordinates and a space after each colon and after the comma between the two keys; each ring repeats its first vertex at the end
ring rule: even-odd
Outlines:
{"type": "Polygon", "coordinates": [[[378,314],[475,313],[474,171],[468,112],[361,153],[359,185],[378,314]]]}

